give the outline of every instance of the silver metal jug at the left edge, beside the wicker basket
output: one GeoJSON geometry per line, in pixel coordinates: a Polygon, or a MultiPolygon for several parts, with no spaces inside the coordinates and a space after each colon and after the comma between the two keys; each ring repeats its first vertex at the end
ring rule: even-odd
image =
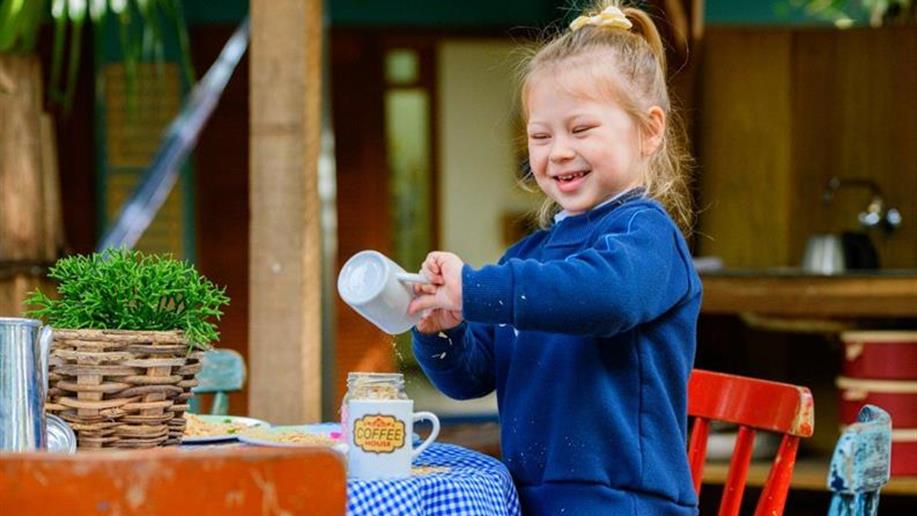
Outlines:
{"type": "Polygon", "coordinates": [[[0,451],[48,447],[45,396],[53,332],[36,319],[0,317],[0,451]]]}

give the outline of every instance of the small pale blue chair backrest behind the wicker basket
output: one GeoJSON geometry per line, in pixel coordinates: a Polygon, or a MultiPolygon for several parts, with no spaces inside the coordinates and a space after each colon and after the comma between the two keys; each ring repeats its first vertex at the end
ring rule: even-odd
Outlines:
{"type": "MultiPolygon", "coordinates": [[[[197,373],[197,386],[191,389],[195,394],[213,393],[211,414],[226,415],[229,412],[229,396],[226,393],[242,390],[245,385],[245,359],[231,349],[212,349],[204,353],[201,371],[197,373]]],[[[192,396],[191,412],[200,413],[200,399],[192,396]]]]}

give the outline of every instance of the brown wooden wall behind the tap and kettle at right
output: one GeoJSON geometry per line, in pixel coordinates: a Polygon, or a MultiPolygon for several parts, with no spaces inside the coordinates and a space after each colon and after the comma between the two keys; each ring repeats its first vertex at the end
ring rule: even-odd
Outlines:
{"type": "Polygon", "coordinates": [[[868,178],[903,224],[871,234],[883,267],[917,266],[917,28],[712,28],[699,106],[698,252],[798,265],[815,232],[857,229],[868,178]]]}

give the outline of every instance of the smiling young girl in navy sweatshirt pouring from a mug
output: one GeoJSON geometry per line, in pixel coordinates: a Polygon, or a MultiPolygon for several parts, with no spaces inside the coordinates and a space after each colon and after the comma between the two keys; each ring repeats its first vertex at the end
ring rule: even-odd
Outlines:
{"type": "Polygon", "coordinates": [[[445,394],[494,389],[526,514],[694,514],[686,386],[701,283],[659,33],[602,2],[527,64],[545,229],[480,269],[433,252],[414,353],[445,394]],[[668,210],[668,212],[667,212],[668,210]]]}

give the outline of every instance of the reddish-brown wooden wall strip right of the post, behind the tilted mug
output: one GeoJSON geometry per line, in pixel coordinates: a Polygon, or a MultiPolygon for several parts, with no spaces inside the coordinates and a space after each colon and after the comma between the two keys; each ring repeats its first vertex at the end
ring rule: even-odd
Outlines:
{"type": "MultiPolygon", "coordinates": [[[[331,105],[337,181],[337,259],[334,275],[364,249],[392,251],[391,199],[385,150],[382,42],[375,32],[331,31],[331,105]]],[[[336,283],[335,283],[336,285],[336,283]]],[[[335,391],[346,392],[350,371],[393,371],[393,342],[335,291],[335,391]]]]}

